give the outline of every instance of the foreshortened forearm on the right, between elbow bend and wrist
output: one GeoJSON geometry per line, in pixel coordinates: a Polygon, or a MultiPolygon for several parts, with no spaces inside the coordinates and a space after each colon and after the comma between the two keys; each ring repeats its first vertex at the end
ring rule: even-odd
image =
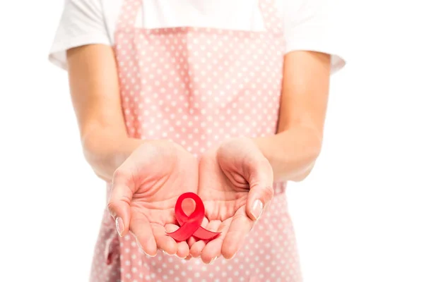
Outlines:
{"type": "Polygon", "coordinates": [[[273,168],[276,181],[300,181],[310,173],[321,150],[316,130],[295,127],[254,140],[273,168]]]}

